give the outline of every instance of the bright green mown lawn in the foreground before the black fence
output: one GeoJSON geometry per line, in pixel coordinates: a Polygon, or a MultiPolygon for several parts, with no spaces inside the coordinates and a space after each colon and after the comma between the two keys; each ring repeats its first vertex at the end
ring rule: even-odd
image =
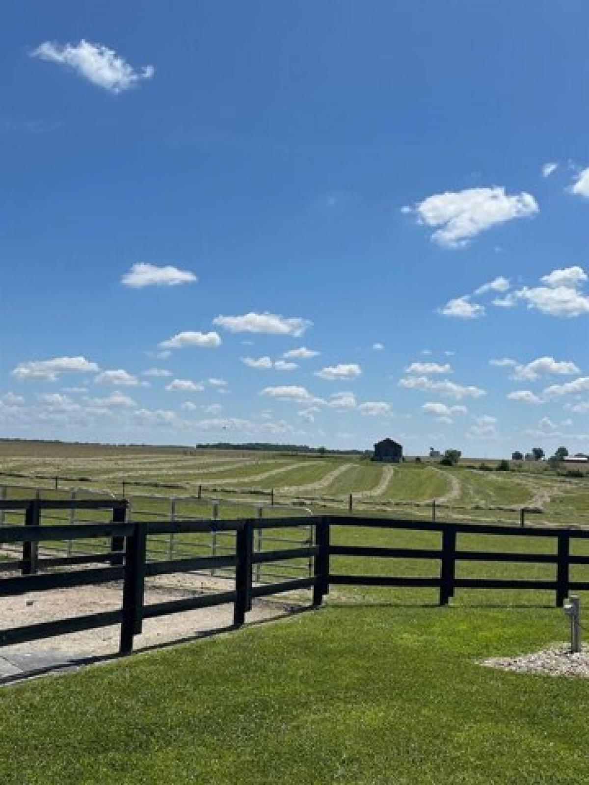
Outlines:
{"type": "Polygon", "coordinates": [[[477,659],[566,634],[545,608],[327,607],[0,691],[4,785],[589,780],[589,682],[477,659]]]}

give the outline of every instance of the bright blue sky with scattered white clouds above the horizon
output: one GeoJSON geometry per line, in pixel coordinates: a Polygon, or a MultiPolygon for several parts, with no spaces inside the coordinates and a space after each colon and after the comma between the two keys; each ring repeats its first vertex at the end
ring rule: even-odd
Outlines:
{"type": "Polygon", "coordinates": [[[6,0],[0,433],[589,451],[587,24],[6,0]]]}

